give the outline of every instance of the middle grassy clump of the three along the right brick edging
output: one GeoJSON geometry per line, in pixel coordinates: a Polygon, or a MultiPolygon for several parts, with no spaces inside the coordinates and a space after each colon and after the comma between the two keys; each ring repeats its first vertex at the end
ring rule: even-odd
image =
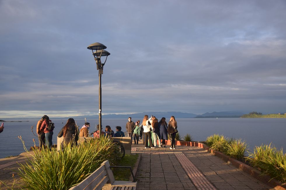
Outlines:
{"type": "Polygon", "coordinates": [[[241,139],[230,139],[226,148],[226,155],[233,157],[235,159],[243,159],[245,157],[245,151],[247,149],[247,144],[241,139]]]}

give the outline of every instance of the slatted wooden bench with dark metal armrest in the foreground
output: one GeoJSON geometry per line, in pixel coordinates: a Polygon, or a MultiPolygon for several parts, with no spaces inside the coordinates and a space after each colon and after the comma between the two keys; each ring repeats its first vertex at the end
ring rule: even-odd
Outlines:
{"type": "Polygon", "coordinates": [[[102,162],[101,166],[97,168],[92,174],[90,174],[86,179],[71,187],[69,190],[100,190],[104,184],[110,183],[110,190],[135,190],[137,182],[135,180],[132,168],[130,166],[110,166],[109,161],[106,160],[102,162]],[[110,168],[130,168],[131,174],[133,176],[133,182],[131,181],[115,181],[113,173],[110,168]]]}

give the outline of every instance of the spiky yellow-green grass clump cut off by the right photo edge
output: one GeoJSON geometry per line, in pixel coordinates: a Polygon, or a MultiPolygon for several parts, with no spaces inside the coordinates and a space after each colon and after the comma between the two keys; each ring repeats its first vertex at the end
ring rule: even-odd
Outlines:
{"type": "Polygon", "coordinates": [[[249,152],[247,160],[251,166],[258,168],[262,175],[270,175],[283,184],[286,184],[286,154],[283,150],[276,150],[269,145],[255,147],[253,153],[249,152]]]}

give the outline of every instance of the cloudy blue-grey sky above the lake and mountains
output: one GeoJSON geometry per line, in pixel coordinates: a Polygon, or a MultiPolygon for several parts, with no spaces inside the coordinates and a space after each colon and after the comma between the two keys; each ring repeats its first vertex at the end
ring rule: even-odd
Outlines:
{"type": "Polygon", "coordinates": [[[0,118],[286,112],[286,1],[0,0],[0,118]],[[102,61],[105,57],[101,58],[102,61]]]}

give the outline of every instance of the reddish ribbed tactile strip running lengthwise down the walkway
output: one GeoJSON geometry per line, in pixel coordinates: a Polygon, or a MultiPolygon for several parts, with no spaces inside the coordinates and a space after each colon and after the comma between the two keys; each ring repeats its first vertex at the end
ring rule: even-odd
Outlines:
{"type": "Polygon", "coordinates": [[[174,154],[198,189],[216,189],[182,152],[174,152],[174,154]]]}

